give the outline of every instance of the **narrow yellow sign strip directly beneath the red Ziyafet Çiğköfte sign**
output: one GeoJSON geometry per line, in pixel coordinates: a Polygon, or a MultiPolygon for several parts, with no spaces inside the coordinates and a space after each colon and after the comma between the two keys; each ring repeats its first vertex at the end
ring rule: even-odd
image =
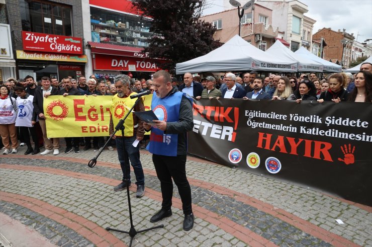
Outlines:
{"type": "Polygon", "coordinates": [[[86,55],[17,51],[17,59],[86,63],[86,55]]]}

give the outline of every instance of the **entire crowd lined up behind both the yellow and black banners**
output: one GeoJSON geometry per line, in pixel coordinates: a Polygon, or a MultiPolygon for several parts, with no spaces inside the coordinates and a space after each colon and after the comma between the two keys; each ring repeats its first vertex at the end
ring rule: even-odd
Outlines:
{"type": "MultiPolygon", "coordinates": [[[[261,78],[258,73],[251,71],[243,74],[242,78],[231,72],[225,73],[223,79],[213,76],[201,78],[185,73],[183,82],[171,78],[172,87],[196,100],[200,99],[231,99],[243,100],[303,100],[371,102],[372,100],[372,65],[363,63],[360,71],[351,73],[334,73],[327,78],[319,79],[316,73],[301,74],[299,78],[270,74],[261,78]]],[[[43,99],[49,95],[115,95],[117,87],[110,79],[99,81],[94,75],[87,80],[80,76],[77,80],[65,77],[60,82],[56,78],[42,77],[36,82],[32,76],[16,80],[9,78],[0,82],[1,107],[6,110],[0,120],[3,154],[17,153],[18,141],[20,146],[27,145],[25,154],[37,154],[42,146],[45,150],[41,155],[59,154],[59,138],[48,138],[43,112],[43,99]],[[31,145],[31,138],[34,146],[31,145]]],[[[152,80],[130,80],[132,92],[140,93],[145,90],[154,91],[152,80]]],[[[99,150],[105,143],[104,137],[74,137],[65,138],[65,153],[94,148],[99,150]]],[[[148,136],[141,140],[143,149],[149,142],[148,136]]],[[[115,142],[110,142],[109,150],[114,150],[115,142]]]]}

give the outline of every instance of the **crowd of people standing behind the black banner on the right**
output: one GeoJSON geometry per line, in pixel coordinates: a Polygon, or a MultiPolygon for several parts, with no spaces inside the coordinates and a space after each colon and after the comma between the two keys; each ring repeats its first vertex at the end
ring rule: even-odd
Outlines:
{"type": "Polygon", "coordinates": [[[213,76],[200,78],[185,73],[184,83],[178,90],[200,99],[265,99],[265,100],[302,100],[371,102],[372,101],[372,64],[363,63],[360,71],[351,73],[334,73],[319,79],[316,73],[294,76],[271,74],[258,77],[256,71],[243,74],[243,79],[231,72],[225,73],[223,79],[213,76]]]}

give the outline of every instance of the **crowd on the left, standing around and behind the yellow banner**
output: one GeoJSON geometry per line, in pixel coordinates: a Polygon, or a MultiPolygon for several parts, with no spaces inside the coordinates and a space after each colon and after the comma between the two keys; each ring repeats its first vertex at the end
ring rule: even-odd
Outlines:
{"type": "MultiPolygon", "coordinates": [[[[0,148],[3,154],[17,153],[18,146],[27,146],[25,154],[38,154],[40,148],[45,147],[41,155],[52,153],[59,154],[59,139],[48,138],[45,125],[43,110],[43,100],[49,95],[115,95],[117,88],[110,80],[99,81],[94,75],[88,80],[80,76],[77,80],[72,77],[65,77],[60,82],[57,78],[42,77],[36,82],[32,76],[17,80],[8,78],[5,82],[0,82],[1,100],[0,106],[3,114],[0,118],[0,148]],[[32,137],[33,145],[31,144],[32,137]],[[19,144],[18,144],[19,143],[19,144]]],[[[133,92],[144,90],[153,91],[151,80],[138,80],[131,82],[133,92]],[[140,85],[140,87],[138,86],[140,85]]],[[[99,150],[104,146],[104,137],[66,137],[66,148],[64,153],[94,148],[99,150]]],[[[148,139],[141,143],[141,148],[145,148],[148,139]]],[[[109,150],[114,150],[115,142],[110,142],[109,150]]]]}

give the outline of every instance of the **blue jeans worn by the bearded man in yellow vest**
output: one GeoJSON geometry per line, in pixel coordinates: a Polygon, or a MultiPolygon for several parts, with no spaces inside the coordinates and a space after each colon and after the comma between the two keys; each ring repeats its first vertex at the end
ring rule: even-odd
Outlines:
{"type": "Polygon", "coordinates": [[[123,181],[128,178],[131,181],[129,160],[133,166],[134,174],[136,175],[136,184],[145,185],[145,175],[143,174],[142,164],[139,159],[139,146],[133,147],[132,143],[136,137],[116,138],[116,149],[118,150],[118,158],[123,171],[123,181]]]}

